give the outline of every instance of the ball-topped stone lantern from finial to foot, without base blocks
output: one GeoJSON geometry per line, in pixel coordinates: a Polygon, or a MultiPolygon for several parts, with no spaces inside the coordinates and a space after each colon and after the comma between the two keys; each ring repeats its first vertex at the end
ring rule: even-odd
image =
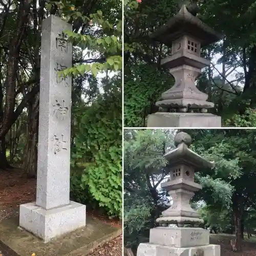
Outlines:
{"type": "Polygon", "coordinates": [[[161,183],[172,198],[173,204],[162,212],[156,220],[161,224],[196,224],[203,223],[200,214],[191,208],[189,202],[195,192],[202,189],[202,186],[195,182],[195,172],[201,168],[211,168],[213,162],[201,157],[193,150],[189,149],[191,137],[185,132],[175,136],[176,148],[167,152],[164,157],[168,161],[169,178],[161,183]]]}

